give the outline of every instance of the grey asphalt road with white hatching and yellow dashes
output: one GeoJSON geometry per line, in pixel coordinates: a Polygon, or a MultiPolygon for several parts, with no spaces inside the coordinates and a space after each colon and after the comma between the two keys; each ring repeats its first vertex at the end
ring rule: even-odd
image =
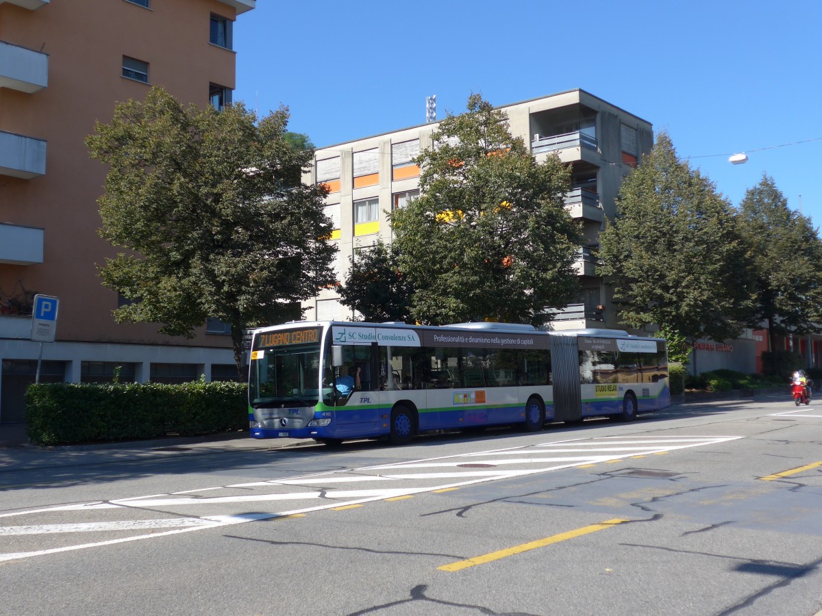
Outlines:
{"type": "Polygon", "coordinates": [[[0,449],[0,614],[822,610],[822,407],[0,449]]]}

